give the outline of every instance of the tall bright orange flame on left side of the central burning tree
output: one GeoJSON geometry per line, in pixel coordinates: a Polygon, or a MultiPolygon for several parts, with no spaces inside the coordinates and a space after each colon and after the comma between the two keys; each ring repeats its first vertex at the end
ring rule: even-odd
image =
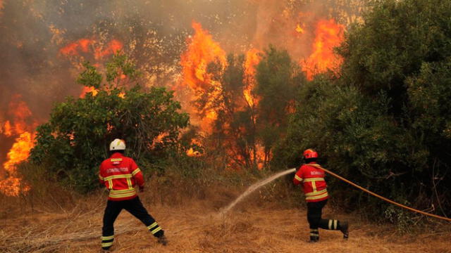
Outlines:
{"type": "Polygon", "coordinates": [[[187,38],[187,50],[180,56],[180,65],[183,67],[183,82],[192,91],[197,93],[193,100],[208,93],[205,110],[198,112],[203,115],[202,130],[210,131],[211,122],[216,117],[216,111],[212,110],[214,102],[221,95],[222,86],[214,81],[206,71],[209,63],[218,61],[223,67],[227,65],[226,52],[223,51],[211,37],[208,31],[202,29],[202,25],[192,21],[194,36],[187,38]]]}

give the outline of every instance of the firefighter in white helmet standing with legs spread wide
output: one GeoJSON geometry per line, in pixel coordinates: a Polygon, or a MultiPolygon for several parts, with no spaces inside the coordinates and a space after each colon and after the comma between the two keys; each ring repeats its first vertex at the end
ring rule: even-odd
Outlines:
{"type": "Polygon", "coordinates": [[[100,165],[99,181],[109,190],[108,202],[104,213],[101,247],[108,250],[113,245],[114,221],[122,209],[140,219],[147,229],[158,238],[162,245],[167,244],[163,229],[142,206],[137,196],[137,186],[144,191],[144,178],[135,161],[123,155],[125,141],[115,139],[110,144],[111,157],[100,165]]]}

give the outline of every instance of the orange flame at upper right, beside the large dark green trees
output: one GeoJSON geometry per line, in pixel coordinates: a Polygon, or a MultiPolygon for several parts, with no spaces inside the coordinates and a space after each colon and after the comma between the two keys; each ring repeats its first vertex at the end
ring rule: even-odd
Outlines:
{"type": "Polygon", "coordinates": [[[314,44],[311,55],[304,63],[302,70],[307,73],[307,79],[313,79],[314,74],[335,70],[342,63],[342,58],[333,53],[333,48],[344,40],[344,26],[335,20],[319,20],[316,25],[314,44]]]}

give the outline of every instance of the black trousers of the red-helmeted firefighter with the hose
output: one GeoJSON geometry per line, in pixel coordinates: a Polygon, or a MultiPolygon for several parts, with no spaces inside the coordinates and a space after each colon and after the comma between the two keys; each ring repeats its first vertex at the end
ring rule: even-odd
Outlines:
{"type": "Polygon", "coordinates": [[[326,203],[327,200],[307,202],[307,221],[309,221],[310,225],[310,240],[319,240],[318,228],[330,230],[340,229],[340,221],[333,219],[321,219],[323,207],[326,203]]]}

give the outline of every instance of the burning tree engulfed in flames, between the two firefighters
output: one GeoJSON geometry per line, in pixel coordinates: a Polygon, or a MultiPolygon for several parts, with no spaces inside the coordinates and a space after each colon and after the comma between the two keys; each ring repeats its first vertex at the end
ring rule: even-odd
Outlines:
{"type": "Polygon", "coordinates": [[[228,167],[258,167],[271,159],[271,148],[285,131],[299,65],[287,51],[270,46],[245,55],[221,49],[208,31],[193,22],[195,34],[183,53],[183,83],[195,93],[198,115],[210,152],[226,156],[228,167]]]}

